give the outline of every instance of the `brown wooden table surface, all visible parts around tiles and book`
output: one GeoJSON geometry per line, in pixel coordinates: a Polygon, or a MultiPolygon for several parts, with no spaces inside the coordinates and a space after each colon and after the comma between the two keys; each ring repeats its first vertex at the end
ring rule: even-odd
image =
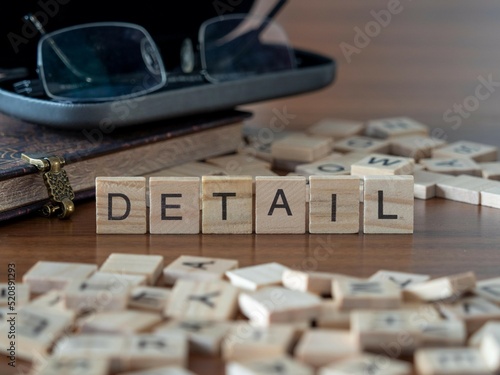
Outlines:
{"type": "MultiPolygon", "coordinates": [[[[338,76],[314,93],[244,107],[255,114],[250,122],[269,126],[276,111],[293,117],[287,129],[325,117],[410,116],[448,141],[500,146],[500,2],[402,0],[387,25],[374,26],[374,14],[392,3],[290,1],[278,20],[291,43],[334,57],[338,76]],[[356,44],[357,30],[366,27],[373,37],[356,44]],[[350,56],[344,54],[347,44],[355,51],[350,56]],[[481,91],[488,98],[471,99],[485,80],[493,82],[481,91]],[[457,105],[462,114],[451,120],[447,114],[457,105]]],[[[16,264],[20,280],[38,260],[100,265],[113,252],[160,254],[166,263],[181,254],[236,258],[242,266],[276,261],[356,276],[378,269],[431,276],[474,271],[482,279],[500,276],[499,228],[500,210],[436,198],[415,201],[413,235],[96,235],[90,201],[77,205],[69,221],[30,218],[2,225],[0,280],[7,263],[16,264]]],[[[203,368],[205,361],[193,369],[222,373],[212,361],[210,371],[203,368]]]]}

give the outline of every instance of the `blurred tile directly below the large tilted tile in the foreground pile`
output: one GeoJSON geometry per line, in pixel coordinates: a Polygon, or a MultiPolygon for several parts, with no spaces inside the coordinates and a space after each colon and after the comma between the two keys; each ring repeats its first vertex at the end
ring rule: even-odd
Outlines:
{"type": "Polygon", "coordinates": [[[276,358],[287,354],[295,341],[296,329],[291,324],[256,327],[247,321],[235,324],[222,341],[225,361],[276,358]]]}

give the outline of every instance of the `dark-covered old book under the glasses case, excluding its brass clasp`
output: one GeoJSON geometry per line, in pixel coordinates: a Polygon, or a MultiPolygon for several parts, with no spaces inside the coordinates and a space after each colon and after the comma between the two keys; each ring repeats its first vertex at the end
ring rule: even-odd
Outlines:
{"type": "Polygon", "coordinates": [[[251,116],[235,109],[140,126],[82,130],[0,116],[0,221],[32,214],[49,202],[40,171],[22,154],[63,157],[77,202],[95,196],[98,176],[139,176],[233,152],[241,145],[244,121],[251,116]]]}

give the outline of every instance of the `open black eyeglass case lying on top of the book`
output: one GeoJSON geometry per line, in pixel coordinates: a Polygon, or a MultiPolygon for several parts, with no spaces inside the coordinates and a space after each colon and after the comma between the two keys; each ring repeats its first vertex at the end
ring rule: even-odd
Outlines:
{"type": "MultiPolygon", "coordinates": [[[[26,67],[36,78],[40,35],[23,16],[33,13],[47,32],[88,22],[119,21],[143,26],[156,41],[167,71],[178,68],[182,41],[197,41],[201,23],[218,15],[249,13],[254,1],[142,1],[102,9],[96,0],[9,1],[0,15],[0,68],[26,67]],[[164,11],[163,9],[167,9],[164,11]]],[[[123,3],[122,3],[123,4],[123,3]]],[[[286,7],[281,10],[286,12],[286,7]]],[[[285,30],[286,31],[286,30],[285,30]]],[[[293,40],[290,41],[293,45],[293,40]]],[[[0,112],[22,121],[57,128],[124,127],[198,113],[232,109],[264,100],[324,88],[335,79],[335,60],[294,49],[297,68],[222,83],[205,81],[167,84],[137,98],[98,103],[66,103],[15,93],[12,83],[0,84],[0,112]]]]}

